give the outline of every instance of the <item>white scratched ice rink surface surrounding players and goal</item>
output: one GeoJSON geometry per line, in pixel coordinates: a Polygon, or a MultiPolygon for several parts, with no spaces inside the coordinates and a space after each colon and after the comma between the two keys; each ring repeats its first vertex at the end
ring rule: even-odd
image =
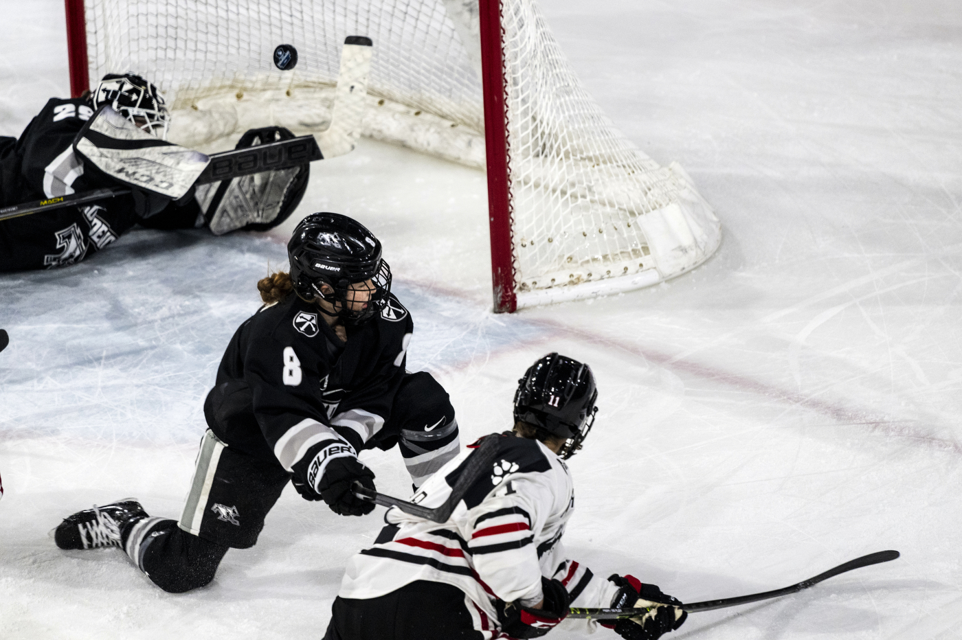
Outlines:
{"type": "MultiPolygon", "coordinates": [[[[463,441],[510,425],[535,357],[588,361],[600,412],[570,468],[570,554],[683,601],[902,557],[693,614],[678,640],[927,640],[962,627],[962,13],[950,0],[544,0],[617,125],[678,160],[722,220],[694,272],[594,302],[491,312],[481,172],[365,141],[298,210],[356,216],[412,311],[410,369],[463,441]]],[[[63,3],[0,0],[0,135],[68,92],[63,3]]],[[[296,215],[296,214],[295,214],[296,215]]],[[[319,638],[380,528],[288,490],[258,545],[170,595],[47,531],[136,496],[176,517],[227,340],[285,236],[134,231],[0,277],[0,638],[319,638]]],[[[404,494],[396,452],[364,454],[404,494]]],[[[601,629],[595,637],[615,638],[601,629]]],[[[581,637],[555,631],[548,637],[581,637]]]]}

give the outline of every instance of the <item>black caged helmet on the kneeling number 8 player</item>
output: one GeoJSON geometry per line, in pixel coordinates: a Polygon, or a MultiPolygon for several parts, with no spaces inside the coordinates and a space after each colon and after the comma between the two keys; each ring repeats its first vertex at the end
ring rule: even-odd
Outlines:
{"type": "Polygon", "coordinates": [[[321,212],[305,217],[288,242],[288,257],[297,295],[333,304],[345,323],[367,322],[388,304],[391,267],[381,259],[381,242],[346,215],[321,212]],[[325,294],[322,284],[334,291],[325,294]],[[367,305],[352,309],[359,293],[367,294],[367,305]]]}

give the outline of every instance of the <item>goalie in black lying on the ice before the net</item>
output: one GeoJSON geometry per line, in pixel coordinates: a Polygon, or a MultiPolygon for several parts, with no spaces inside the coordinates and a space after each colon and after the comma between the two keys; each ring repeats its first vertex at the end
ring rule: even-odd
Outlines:
{"type": "MultiPolygon", "coordinates": [[[[102,162],[95,164],[86,154],[100,158],[122,153],[125,167],[145,167],[147,176],[163,176],[177,169],[170,167],[171,162],[190,165],[191,156],[202,157],[163,141],[169,122],[161,92],[132,73],[108,74],[92,93],[80,98],[51,98],[19,138],[0,136],[0,208],[91,189],[131,186],[122,169],[105,170],[102,162]],[[109,139],[104,144],[109,142],[110,149],[97,148],[99,138],[89,135],[89,124],[91,118],[102,115],[105,120],[113,117],[114,122],[108,124],[121,133],[124,126],[128,128],[124,144],[109,139]],[[134,129],[137,135],[130,135],[129,130],[134,129]],[[78,142],[85,134],[86,146],[82,147],[78,142]],[[170,153],[168,147],[176,151],[170,153]],[[166,166],[157,162],[160,156],[166,166]]],[[[238,148],[291,137],[291,132],[281,127],[253,129],[241,137],[238,148]]],[[[310,163],[305,163],[189,188],[176,199],[149,186],[134,185],[128,195],[2,220],[0,272],[79,262],[138,224],[165,230],[207,227],[215,235],[239,229],[265,231],[296,209],[309,173],[310,163]]]]}

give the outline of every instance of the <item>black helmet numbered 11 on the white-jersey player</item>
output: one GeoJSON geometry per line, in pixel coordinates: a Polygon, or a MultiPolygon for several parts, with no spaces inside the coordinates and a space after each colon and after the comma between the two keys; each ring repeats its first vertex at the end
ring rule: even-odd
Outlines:
{"type": "Polygon", "coordinates": [[[598,397],[592,368],[556,353],[539,358],[518,381],[515,421],[569,439],[561,456],[569,458],[595,424],[598,397]]]}

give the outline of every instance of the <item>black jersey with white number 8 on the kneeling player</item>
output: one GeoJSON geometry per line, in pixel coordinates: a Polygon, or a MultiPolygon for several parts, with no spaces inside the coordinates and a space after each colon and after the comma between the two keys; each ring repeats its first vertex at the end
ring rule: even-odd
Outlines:
{"type": "Polygon", "coordinates": [[[289,472],[321,440],[355,452],[390,448],[382,431],[404,378],[414,324],[393,295],[343,342],[314,304],[291,294],[241,324],[220,361],[204,413],[228,446],[289,472]]]}

